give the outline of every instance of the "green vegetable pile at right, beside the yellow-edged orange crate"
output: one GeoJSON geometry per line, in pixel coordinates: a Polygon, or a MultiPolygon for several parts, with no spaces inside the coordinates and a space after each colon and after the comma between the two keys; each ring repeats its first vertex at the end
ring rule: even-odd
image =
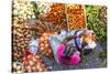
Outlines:
{"type": "Polygon", "coordinates": [[[95,31],[98,42],[107,42],[107,7],[86,6],[87,28],[95,31]]]}

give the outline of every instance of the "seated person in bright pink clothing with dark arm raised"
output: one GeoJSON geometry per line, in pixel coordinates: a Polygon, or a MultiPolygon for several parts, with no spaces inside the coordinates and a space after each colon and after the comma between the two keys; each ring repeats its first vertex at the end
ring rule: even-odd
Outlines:
{"type": "Polygon", "coordinates": [[[67,36],[57,47],[56,57],[57,62],[64,65],[78,64],[80,62],[80,52],[77,51],[75,45],[67,44],[68,41],[76,36],[67,36]]]}

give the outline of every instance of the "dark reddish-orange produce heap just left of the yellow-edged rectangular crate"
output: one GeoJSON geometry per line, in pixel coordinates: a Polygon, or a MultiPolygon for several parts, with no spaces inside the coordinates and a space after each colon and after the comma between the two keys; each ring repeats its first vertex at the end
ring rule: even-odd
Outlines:
{"type": "Polygon", "coordinates": [[[58,29],[67,28],[65,4],[63,3],[54,3],[51,6],[51,11],[47,13],[46,18],[58,29]]]}

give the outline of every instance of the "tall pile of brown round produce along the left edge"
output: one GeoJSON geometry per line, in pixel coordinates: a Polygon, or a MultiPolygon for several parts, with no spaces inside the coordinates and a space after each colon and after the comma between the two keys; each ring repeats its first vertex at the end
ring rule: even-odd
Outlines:
{"type": "Polygon", "coordinates": [[[12,56],[13,61],[21,60],[23,56],[23,50],[28,49],[29,41],[31,40],[31,30],[26,23],[19,19],[13,20],[13,31],[12,31],[12,56]],[[22,27],[22,25],[25,25],[22,27]]]}

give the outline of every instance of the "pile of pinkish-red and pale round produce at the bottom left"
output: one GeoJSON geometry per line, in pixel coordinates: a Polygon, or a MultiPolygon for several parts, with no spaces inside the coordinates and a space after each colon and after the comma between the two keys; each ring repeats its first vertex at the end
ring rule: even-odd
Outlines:
{"type": "Polygon", "coordinates": [[[48,71],[43,60],[37,54],[29,54],[22,59],[22,64],[25,72],[43,72],[48,71]]]}

